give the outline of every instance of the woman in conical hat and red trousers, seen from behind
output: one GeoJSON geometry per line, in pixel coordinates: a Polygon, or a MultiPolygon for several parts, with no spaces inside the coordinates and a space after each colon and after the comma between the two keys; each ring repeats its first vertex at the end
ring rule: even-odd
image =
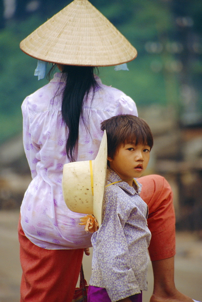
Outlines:
{"type": "MultiPolygon", "coordinates": [[[[39,78],[46,62],[61,70],[22,104],[24,149],[33,180],[24,195],[18,228],[21,301],[70,302],[84,249],[89,253],[91,234],[78,225],[83,215],[71,212],[64,202],[63,165],[96,158],[103,120],[118,114],[137,116],[130,97],[103,85],[94,74],[95,66],[127,63],[135,59],[137,51],[87,0],[71,2],[20,47],[40,60],[35,73],[39,78]]],[[[158,175],[145,176],[139,182],[152,233],[149,252],[155,287],[150,301],[192,302],[174,284],[171,188],[158,175]]]]}

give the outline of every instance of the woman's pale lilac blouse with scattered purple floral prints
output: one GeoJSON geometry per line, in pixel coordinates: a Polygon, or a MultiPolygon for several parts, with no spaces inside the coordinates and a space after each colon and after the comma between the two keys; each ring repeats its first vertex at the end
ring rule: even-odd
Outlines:
{"type": "MultiPolygon", "coordinates": [[[[103,136],[100,123],[118,114],[137,116],[134,101],[118,89],[103,85],[84,104],[84,119],[79,124],[77,161],[95,159],[103,136]]],[[[60,73],[44,87],[27,96],[22,104],[23,143],[32,174],[32,182],[21,205],[21,225],[31,242],[45,249],[77,249],[91,246],[91,234],[78,225],[84,214],[71,212],[62,195],[65,151],[65,125],[61,116],[61,97],[53,99],[61,82],[60,73]]],[[[64,83],[62,83],[64,85],[64,83]]]]}

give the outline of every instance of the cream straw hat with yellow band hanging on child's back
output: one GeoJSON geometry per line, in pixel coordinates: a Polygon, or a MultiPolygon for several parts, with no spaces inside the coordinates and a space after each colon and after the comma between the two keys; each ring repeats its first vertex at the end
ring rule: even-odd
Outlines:
{"type": "Polygon", "coordinates": [[[106,169],[106,131],[94,160],[69,162],[63,167],[62,191],[66,205],[73,212],[93,214],[99,226],[102,223],[106,169]]]}

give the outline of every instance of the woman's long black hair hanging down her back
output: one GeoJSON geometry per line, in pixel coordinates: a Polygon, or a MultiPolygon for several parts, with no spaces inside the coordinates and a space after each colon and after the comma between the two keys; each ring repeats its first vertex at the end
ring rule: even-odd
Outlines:
{"type": "MultiPolygon", "coordinates": [[[[62,80],[66,80],[65,88],[62,90],[62,119],[68,128],[66,143],[67,157],[73,162],[75,161],[74,148],[78,140],[80,116],[84,122],[83,104],[88,97],[91,87],[93,88],[94,95],[98,84],[94,77],[93,66],[62,65],[62,68],[61,77],[62,80]]],[[[60,93],[59,87],[56,95],[60,93]]],[[[87,126],[85,122],[84,126],[87,126]]]]}

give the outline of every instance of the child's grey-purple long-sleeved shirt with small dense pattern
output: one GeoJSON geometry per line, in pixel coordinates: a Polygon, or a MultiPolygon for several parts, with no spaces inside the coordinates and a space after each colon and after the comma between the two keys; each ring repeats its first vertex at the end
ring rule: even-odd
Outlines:
{"type": "MultiPolygon", "coordinates": [[[[108,169],[106,185],[121,178],[108,169]]],[[[103,223],[91,238],[93,245],[90,285],[106,288],[113,301],[147,290],[148,207],[139,196],[141,185],[126,182],[105,189],[103,223]]]]}

